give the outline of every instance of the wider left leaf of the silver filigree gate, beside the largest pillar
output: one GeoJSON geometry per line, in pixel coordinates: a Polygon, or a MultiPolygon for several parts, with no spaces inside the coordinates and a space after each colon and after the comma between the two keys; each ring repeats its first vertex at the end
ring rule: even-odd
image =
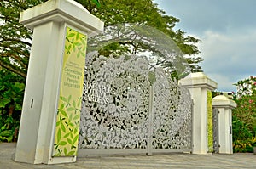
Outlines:
{"type": "Polygon", "coordinates": [[[146,148],[148,61],[87,57],[80,148],[146,148]]]}

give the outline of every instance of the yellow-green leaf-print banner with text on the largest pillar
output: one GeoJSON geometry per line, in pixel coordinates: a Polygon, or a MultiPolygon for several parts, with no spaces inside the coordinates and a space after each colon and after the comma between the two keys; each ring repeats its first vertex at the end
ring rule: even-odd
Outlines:
{"type": "Polygon", "coordinates": [[[77,154],[86,45],[86,35],[67,27],[53,156],[77,154]]]}

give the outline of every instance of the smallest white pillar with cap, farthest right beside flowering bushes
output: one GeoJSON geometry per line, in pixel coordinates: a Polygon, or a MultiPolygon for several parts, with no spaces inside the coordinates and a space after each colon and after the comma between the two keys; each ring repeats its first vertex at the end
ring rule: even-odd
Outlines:
{"type": "Polygon", "coordinates": [[[225,97],[218,95],[212,99],[212,107],[218,109],[218,144],[219,153],[233,154],[232,147],[232,109],[236,108],[236,103],[225,97]]]}

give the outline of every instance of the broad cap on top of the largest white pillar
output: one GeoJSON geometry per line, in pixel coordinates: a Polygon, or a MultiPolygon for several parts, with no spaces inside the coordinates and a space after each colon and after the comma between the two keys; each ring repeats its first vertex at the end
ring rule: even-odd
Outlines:
{"type": "Polygon", "coordinates": [[[20,23],[29,29],[49,21],[66,22],[88,34],[102,32],[104,27],[101,20],[73,0],[49,0],[20,13],[20,23]]]}

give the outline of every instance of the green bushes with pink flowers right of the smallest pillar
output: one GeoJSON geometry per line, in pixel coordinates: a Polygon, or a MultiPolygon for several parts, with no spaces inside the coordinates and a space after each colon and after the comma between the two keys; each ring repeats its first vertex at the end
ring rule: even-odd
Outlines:
{"type": "Polygon", "coordinates": [[[256,136],[256,77],[236,83],[233,110],[233,142],[235,152],[251,152],[256,136]]]}

